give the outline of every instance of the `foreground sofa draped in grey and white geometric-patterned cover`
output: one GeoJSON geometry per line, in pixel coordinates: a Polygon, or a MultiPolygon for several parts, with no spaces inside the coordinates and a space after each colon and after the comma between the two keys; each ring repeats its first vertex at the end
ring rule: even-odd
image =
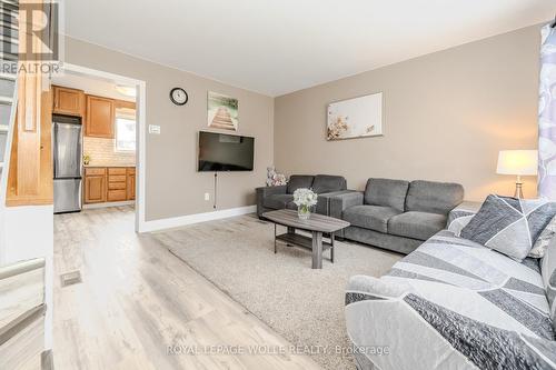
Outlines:
{"type": "Polygon", "coordinates": [[[457,207],[386,276],[349,280],[357,369],[556,369],[556,239],[515,261],[458,237],[476,210],[457,207]]]}

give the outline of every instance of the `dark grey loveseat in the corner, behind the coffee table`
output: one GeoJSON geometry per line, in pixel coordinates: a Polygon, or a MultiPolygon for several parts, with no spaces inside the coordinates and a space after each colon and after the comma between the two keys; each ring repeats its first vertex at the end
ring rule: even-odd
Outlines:
{"type": "Polygon", "coordinates": [[[354,192],[347,190],[346,179],[330,174],[292,174],[288,184],[281,187],[257,188],[257,216],[278,209],[297,209],[294,203],[294,191],[299,188],[312,189],[318,194],[316,212],[330,214],[329,200],[335,196],[354,192]]]}

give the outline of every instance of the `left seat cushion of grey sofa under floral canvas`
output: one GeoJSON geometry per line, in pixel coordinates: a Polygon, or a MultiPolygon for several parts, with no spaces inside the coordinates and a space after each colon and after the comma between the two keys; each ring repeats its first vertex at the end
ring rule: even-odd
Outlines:
{"type": "Polygon", "coordinates": [[[391,207],[355,206],[344,211],[344,220],[353,226],[380,231],[388,231],[388,220],[401,211],[391,207]]]}

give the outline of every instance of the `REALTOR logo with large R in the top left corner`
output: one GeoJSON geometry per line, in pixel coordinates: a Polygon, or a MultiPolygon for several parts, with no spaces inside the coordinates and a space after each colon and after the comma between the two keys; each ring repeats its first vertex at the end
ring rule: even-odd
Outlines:
{"type": "Polygon", "coordinates": [[[3,72],[52,73],[59,70],[62,57],[59,11],[58,2],[0,2],[3,72]]]}

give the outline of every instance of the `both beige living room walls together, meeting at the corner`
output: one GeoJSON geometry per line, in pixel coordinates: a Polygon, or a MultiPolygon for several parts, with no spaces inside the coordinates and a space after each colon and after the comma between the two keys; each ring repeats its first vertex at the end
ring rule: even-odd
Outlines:
{"type": "MultiPolygon", "coordinates": [[[[536,148],[539,27],[473,42],[276,99],[71,38],[69,63],[147,82],[147,220],[212,210],[212,173],[198,173],[197,132],[206,129],[207,91],[237,97],[240,134],[256,137],[255,171],[219,176],[219,209],[255,203],[272,162],[291,173],[337,173],[350,188],[369,177],[460,182],[467,199],[512,193],[497,176],[500,149],[536,148]],[[185,107],[168,99],[189,93],[185,107]],[[326,141],[329,102],[384,92],[379,138],[326,141]],[[272,161],[274,158],[274,161],[272,161]]],[[[526,196],[535,179],[527,178],[526,196]]]]}

